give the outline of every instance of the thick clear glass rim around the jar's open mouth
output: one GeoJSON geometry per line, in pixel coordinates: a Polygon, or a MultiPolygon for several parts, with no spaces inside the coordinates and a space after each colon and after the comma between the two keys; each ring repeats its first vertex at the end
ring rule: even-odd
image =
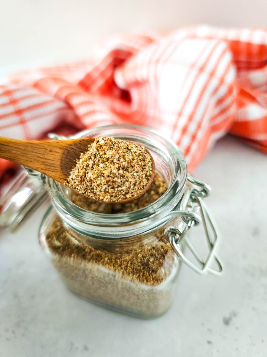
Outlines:
{"type": "MultiPolygon", "coordinates": [[[[168,212],[177,206],[182,197],[187,179],[187,167],[182,152],[172,140],[164,138],[155,130],[137,125],[101,126],[79,132],[73,138],[96,137],[99,135],[114,136],[129,141],[138,139],[138,142],[141,142],[148,150],[152,151],[154,149],[159,150],[158,147],[164,148],[166,155],[169,156],[168,164],[172,165],[174,170],[174,175],[167,191],[158,200],[139,210],[106,214],[78,207],[65,195],[64,187],[66,189],[66,186],[47,177],[47,190],[53,205],[68,225],[83,234],[87,230],[90,232],[89,234],[92,231],[97,231],[98,234],[103,233],[104,235],[108,234],[108,232],[112,235],[116,233],[117,236],[121,232],[125,236],[126,231],[130,232],[133,228],[136,229],[137,225],[142,231],[150,230],[152,222],[162,221],[164,216],[167,216],[168,212]],[[151,146],[149,147],[149,145],[151,146]]],[[[127,234],[127,236],[129,235],[132,235],[132,233],[127,234]]]]}

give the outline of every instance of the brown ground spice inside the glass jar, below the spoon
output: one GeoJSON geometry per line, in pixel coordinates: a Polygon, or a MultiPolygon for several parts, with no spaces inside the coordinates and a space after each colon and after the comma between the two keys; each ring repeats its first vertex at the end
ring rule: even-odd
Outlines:
{"type": "MultiPolygon", "coordinates": [[[[131,202],[101,203],[74,191],[72,201],[94,212],[125,213],[151,204],[166,190],[166,183],[156,174],[147,192],[131,202]]],[[[82,243],[77,236],[79,233],[56,217],[46,244],[54,266],[70,290],[100,305],[155,317],[171,304],[173,283],[167,280],[172,281],[177,271],[177,260],[164,237],[164,228],[124,238],[125,247],[105,250],[82,243]]],[[[111,245],[115,247],[116,242],[112,241],[111,245]]]]}

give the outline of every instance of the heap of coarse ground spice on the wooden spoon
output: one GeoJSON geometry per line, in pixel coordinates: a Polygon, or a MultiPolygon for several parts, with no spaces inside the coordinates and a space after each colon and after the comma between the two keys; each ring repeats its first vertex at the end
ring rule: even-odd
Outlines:
{"type": "Polygon", "coordinates": [[[99,136],[81,154],[67,186],[104,202],[138,197],[153,176],[153,160],[142,145],[99,136]]]}

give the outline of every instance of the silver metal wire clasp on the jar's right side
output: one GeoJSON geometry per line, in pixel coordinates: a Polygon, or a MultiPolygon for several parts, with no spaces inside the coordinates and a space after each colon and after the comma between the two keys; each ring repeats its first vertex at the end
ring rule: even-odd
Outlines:
{"type": "Polygon", "coordinates": [[[210,187],[204,182],[195,180],[195,178],[193,178],[191,175],[188,175],[187,180],[194,186],[200,187],[200,190],[197,190],[197,188],[195,188],[194,186],[187,188],[182,197],[182,200],[179,203],[179,211],[186,212],[186,210],[188,210],[188,212],[191,212],[191,214],[193,215],[198,215],[200,213],[202,221],[200,223],[203,224],[209,248],[208,256],[205,260],[203,260],[195,249],[192,242],[189,240],[189,231],[192,229],[192,227],[199,224],[194,218],[192,218],[192,216],[188,217],[188,215],[180,215],[183,219],[183,222],[179,222],[177,226],[166,228],[164,231],[164,235],[171,244],[174,252],[176,252],[178,257],[180,258],[180,260],[182,260],[195,272],[199,274],[204,274],[209,271],[214,274],[220,274],[223,271],[223,267],[221,266],[221,263],[219,262],[218,258],[215,256],[215,248],[218,244],[218,232],[216,231],[210,214],[203,203],[203,198],[209,196],[210,194],[210,187]],[[199,266],[193,263],[184,255],[182,249],[179,247],[179,245],[181,245],[182,243],[184,243],[192,252],[193,256],[199,263],[199,266]],[[210,263],[213,259],[218,265],[218,270],[215,270],[214,268],[210,267],[210,263]]]}

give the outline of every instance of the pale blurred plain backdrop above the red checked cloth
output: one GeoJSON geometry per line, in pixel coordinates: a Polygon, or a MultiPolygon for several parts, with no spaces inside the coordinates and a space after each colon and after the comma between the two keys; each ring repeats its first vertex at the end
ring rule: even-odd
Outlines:
{"type": "Polygon", "coordinates": [[[265,27],[266,12],[266,0],[2,0],[0,70],[84,59],[114,32],[200,23],[265,27]]]}

